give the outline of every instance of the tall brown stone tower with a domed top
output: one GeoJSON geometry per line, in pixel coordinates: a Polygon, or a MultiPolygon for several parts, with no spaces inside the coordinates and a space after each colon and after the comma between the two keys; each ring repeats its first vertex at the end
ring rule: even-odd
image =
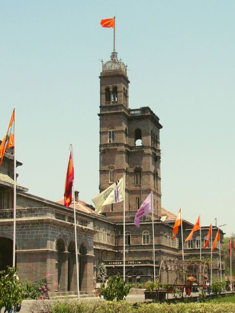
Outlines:
{"type": "MultiPolygon", "coordinates": [[[[153,191],[155,218],[161,217],[160,140],[162,125],[149,107],[129,108],[127,67],[113,52],[100,73],[99,190],[125,175],[126,220],[134,221],[141,202],[153,191]]],[[[123,220],[123,202],[104,213],[123,220]]],[[[146,216],[144,219],[150,219],[146,216]]]]}

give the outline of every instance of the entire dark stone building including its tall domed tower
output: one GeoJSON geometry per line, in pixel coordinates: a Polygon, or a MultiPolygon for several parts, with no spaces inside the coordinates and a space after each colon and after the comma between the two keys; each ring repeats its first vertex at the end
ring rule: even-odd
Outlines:
{"type": "MultiPolygon", "coordinates": [[[[182,258],[181,235],[172,242],[176,216],[161,204],[161,150],[158,116],[145,106],[129,108],[129,79],[125,65],[112,53],[102,64],[100,73],[100,143],[99,190],[102,192],[125,175],[125,243],[123,243],[123,202],[106,205],[102,215],[94,207],[75,196],[77,243],[79,259],[79,289],[93,294],[96,270],[100,262],[108,276],[123,274],[123,244],[126,251],[125,277],[130,283],[145,283],[153,279],[152,217],[142,218],[134,225],[134,216],[142,201],[152,191],[156,274],[163,260],[172,264],[182,258]]],[[[97,143],[98,144],[98,143],[97,143]]],[[[17,162],[17,166],[21,166],[17,162]]],[[[40,281],[50,275],[54,294],[76,292],[73,203],[65,208],[62,201],[48,201],[30,195],[27,188],[17,185],[16,261],[19,276],[40,281]],[[58,284],[58,287],[57,287],[58,284]]],[[[13,156],[8,150],[0,167],[0,270],[12,264],[13,239],[13,156]]],[[[183,220],[184,238],[193,227],[183,220]]],[[[217,228],[213,227],[214,239],[217,228]]],[[[208,226],[202,227],[204,241],[208,226]]],[[[221,243],[223,233],[221,233],[221,243]]],[[[200,240],[199,240],[200,241],[200,240]]],[[[198,234],[184,243],[185,257],[198,257],[198,234]]],[[[203,255],[211,257],[210,249],[203,255]]],[[[218,275],[218,248],[213,252],[213,274],[218,275]]],[[[163,268],[161,280],[173,283],[174,268],[163,268]]]]}

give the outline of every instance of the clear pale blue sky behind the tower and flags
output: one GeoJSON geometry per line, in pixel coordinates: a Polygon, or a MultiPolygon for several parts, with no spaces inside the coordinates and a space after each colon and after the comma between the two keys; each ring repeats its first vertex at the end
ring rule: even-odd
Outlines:
{"type": "Polygon", "coordinates": [[[100,59],[128,65],[129,106],[149,106],[163,129],[162,206],[235,231],[234,0],[0,0],[0,137],[16,107],[18,182],[92,203],[99,184],[100,59]]]}

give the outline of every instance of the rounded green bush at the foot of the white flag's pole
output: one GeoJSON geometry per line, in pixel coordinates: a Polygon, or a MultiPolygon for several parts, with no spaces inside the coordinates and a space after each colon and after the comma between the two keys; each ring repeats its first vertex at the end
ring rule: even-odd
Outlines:
{"type": "Polygon", "coordinates": [[[113,301],[114,299],[120,301],[125,299],[132,287],[134,287],[134,285],[126,284],[118,273],[116,277],[109,278],[107,281],[107,287],[105,287],[104,283],[101,284],[99,288],[99,296],[103,296],[104,299],[108,301],[113,301]]]}

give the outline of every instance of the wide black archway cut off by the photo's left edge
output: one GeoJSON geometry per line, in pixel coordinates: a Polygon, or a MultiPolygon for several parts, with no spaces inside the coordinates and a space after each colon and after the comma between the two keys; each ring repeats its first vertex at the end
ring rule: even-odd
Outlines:
{"type": "Polygon", "coordinates": [[[9,238],[0,237],[0,271],[6,270],[7,266],[12,267],[12,262],[13,241],[9,238]]]}

